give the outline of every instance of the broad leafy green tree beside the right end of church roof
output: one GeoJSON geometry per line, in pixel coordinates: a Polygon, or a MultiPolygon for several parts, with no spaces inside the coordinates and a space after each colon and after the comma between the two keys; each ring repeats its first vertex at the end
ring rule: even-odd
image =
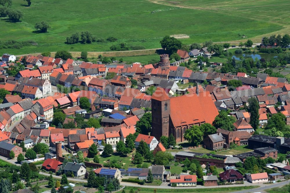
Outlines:
{"type": "Polygon", "coordinates": [[[228,116],[228,113],[224,110],[220,111],[213,121],[215,128],[221,128],[228,131],[233,131],[236,119],[233,116],[228,116]]]}

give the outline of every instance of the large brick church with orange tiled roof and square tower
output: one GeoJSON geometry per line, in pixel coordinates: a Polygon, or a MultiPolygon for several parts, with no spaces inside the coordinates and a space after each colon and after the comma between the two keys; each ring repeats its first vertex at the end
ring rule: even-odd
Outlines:
{"type": "Polygon", "coordinates": [[[169,97],[163,88],[157,87],[151,97],[151,107],[151,135],[160,139],[172,133],[177,143],[185,141],[183,135],[191,126],[212,124],[218,115],[211,94],[199,92],[198,86],[195,93],[179,97],[169,97]]]}

